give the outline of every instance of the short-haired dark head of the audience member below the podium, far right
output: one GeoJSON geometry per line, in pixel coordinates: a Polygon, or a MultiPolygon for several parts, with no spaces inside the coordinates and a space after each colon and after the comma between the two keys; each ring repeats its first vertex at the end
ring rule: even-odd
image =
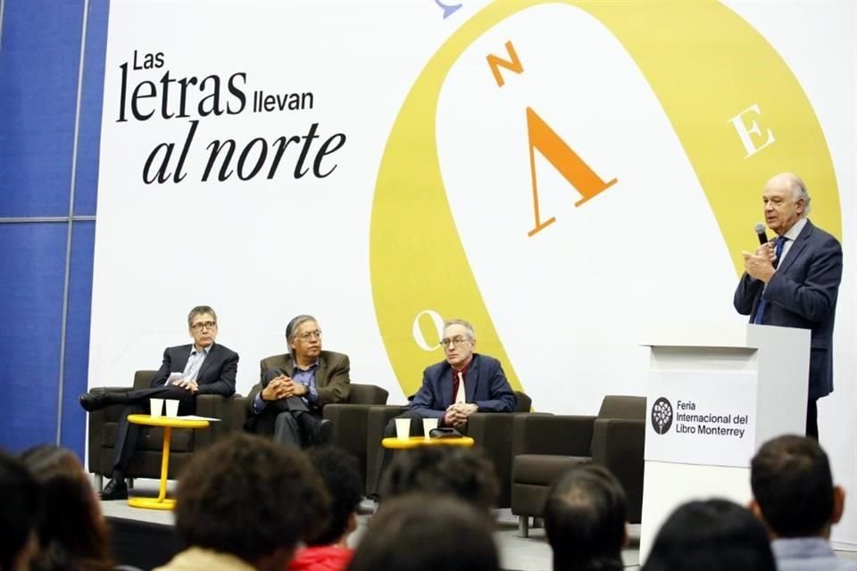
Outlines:
{"type": "Polygon", "coordinates": [[[779,436],[753,457],[751,509],[774,537],[829,537],[845,507],[845,491],[833,485],[828,455],[803,436],[779,436]]]}

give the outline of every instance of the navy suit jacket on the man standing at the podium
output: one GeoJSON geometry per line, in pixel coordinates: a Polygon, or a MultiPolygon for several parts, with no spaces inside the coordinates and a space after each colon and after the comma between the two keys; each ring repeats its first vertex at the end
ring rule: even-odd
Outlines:
{"type": "Polygon", "coordinates": [[[833,392],[833,325],[841,281],[842,246],[807,220],[768,287],[745,273],[735,291],[735,309],[751,322],[764,296],[763,325],[811,330],[810,399],[833,392]]]}

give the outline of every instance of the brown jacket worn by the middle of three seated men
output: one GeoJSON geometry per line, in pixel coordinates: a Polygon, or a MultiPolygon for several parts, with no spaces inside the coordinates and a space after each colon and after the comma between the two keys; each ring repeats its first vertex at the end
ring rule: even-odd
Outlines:
{"type": "MultiPolygon", "coordinates": [[[[247,397],[250,409],[250,417],[253,418],[253,401],[256,395],[268,385],[265,373],[277,370],[288,377],[295,375],[295,360],[290,354],[273,355],[262,359],[259,363],[259,384],[253,387],[247,397]]],[[[315,388],[319,392],[318,407],[322,408],[329,402],[342,402],[348,400],[351,393],[351,378],[348,377],[351,363],[348,355],[332,351],[322,351],[319,355],[319,368],[315,371],[315,388]]]]}

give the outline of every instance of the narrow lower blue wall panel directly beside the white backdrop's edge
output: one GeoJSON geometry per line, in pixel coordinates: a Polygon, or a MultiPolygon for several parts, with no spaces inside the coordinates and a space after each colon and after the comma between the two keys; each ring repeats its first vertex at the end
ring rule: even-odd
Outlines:
{"type": "Polygon", "coordinates": [[[78,395],[87,392],[89,317],[92,309],[92,254],[96,223],[75,222],[71,235],[69,313],[65,332],[65,383],[62,390],[60,443],[83,458],[87,413],[78,395]]]}

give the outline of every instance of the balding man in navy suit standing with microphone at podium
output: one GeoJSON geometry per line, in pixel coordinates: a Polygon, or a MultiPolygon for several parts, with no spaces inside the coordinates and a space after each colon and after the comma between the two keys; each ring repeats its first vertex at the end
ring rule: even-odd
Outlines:
{"type": "Polygon", "coordinates": [[[810,329],[810,378],[806,435],[818,440],[818,400],[833,392],[833,324],[842,281],[842,246],[812,225],[810,195],[803,180],[784,172],[761,196],[765,221],[777,237],[754,253],[744,252],[745,273],[733,300],[751,323],[810,329]]]}

